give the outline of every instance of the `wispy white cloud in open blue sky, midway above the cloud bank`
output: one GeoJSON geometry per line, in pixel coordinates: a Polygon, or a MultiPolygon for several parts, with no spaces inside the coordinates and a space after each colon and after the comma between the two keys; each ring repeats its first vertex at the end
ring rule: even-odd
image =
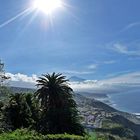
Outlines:
{"type": "Polygon", "coordinates": [[[139,47],[133,46],[133,50],[132,50],[132,46],[127,46],[127,45],[123,45],[120,43],[115,43],[115,44],[113,44],[113,50],[118,52],[118,53],[129,55],[129,56],[140,56],[139,47]]]}

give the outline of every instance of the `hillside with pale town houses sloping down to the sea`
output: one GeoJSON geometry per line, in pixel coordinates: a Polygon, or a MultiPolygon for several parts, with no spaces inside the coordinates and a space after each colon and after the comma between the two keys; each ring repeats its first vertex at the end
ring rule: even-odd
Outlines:
{"type": "Polygon", "coordinates": [[[86,98],[80,94],[75,94],[75,99],[80,114],[84,118],[82,123],[90,131],[95,129],[97,132],[127,137],[132,140],[135,136],[140,138],[140,119],[135,115],[116,110],[103,102],[86,98]]]}

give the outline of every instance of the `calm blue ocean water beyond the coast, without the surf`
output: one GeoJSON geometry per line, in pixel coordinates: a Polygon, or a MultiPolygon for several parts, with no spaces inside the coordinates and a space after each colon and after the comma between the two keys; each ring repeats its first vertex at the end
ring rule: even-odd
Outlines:
{"type": "Polygon", "coordinates": [[[140,113],[140,92],[110,94],[112,106],[129,113],[140,113]]]}

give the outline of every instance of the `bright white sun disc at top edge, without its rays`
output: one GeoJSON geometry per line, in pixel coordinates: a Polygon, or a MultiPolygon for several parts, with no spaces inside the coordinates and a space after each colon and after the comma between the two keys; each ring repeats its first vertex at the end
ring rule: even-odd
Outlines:
{"type": "Polygon", "coordinates": [[[60,7],[62,7],[61,0],[35,0],[33,2],[33,8],[40,10],[45,14],[51,14],[60,7]]]}

